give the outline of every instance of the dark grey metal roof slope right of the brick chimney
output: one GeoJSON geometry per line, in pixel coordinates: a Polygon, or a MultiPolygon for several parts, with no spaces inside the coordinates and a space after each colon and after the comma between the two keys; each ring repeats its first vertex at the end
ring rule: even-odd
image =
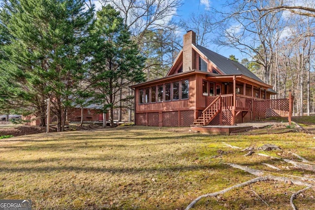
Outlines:
{"type": "Polygon", "coordinates": [[[243,74],[254,80],[264,83],[259,79],[254,73],[248,70],[244,65],[239,62],[225,58],[207,48],[201,47],[199,45],[195,46],[204,56],[206,56],[210,61],[212,61],[223,74],[243,74]]]}

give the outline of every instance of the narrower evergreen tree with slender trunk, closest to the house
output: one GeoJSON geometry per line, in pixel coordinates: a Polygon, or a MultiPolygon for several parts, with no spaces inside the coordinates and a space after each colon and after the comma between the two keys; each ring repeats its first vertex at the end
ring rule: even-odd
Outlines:
{"type": "Polygon", "coordinates": [[[130,32],[111,5],[96,13],[96,21],[89,46],[91,49],[90,82],[95,89],[95,101],[102,104],[104,112],[110,109],[111,126],[113,109],[117,106],[120,90],[131,83],[144,81],[142,67],[145,59],[139,55],[138,46],[130,39],[130,32]]]}

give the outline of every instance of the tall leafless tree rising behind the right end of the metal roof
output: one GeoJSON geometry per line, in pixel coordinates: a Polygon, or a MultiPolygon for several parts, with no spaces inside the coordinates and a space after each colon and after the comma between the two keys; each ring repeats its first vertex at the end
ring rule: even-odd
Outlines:
{"type": "Polygon", "coordinates": [[[219,34],[216,43],[240,50],[252,57],[262,68],[262,77],[267,84],[273,83],[272,64],[275,45],[279,40],[277,32],[282,26],[281,14],[258,11],[256,1],[248,4],[229,4],[231,12],[221,12],[219,34]],[[251,4],[250,4],[251,3],[251,4]],[[246,6],[246,7],[244,7],[246,6]]]}

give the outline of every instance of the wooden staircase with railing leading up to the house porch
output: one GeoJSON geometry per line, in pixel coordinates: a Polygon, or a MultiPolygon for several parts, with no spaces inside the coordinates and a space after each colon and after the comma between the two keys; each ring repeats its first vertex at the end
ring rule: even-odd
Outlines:
{"type": "Polygon", "coordinates": [[[219,95],[205,110],[202,112],[202,116],[193,122],[193,126],[208,125],[221,111],[221,95],[219,95]]]}

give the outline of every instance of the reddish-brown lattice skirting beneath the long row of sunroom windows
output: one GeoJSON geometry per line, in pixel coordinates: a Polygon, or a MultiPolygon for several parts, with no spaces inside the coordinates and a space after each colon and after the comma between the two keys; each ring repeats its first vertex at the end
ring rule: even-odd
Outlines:
{"type": "MultiPolygon", "coordinates": [[[[190,126],[194,121],[194,110],[162,112],[161,114],[163,126],[190,126]]],[[[158,126],[159,113],[138,113],[136,114],[135,124],[158,126]]]]}

